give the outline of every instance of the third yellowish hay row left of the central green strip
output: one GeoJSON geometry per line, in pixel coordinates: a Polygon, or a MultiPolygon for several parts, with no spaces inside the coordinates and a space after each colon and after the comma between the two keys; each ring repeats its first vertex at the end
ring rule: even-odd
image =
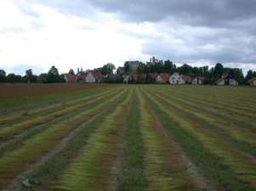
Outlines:
{"type": "Polygon", "coordinates": [[[113,96],[115,93],[117,93],[117,91],[113,91],[108,95],[95,95],[93,98],[90,97],[87,100],[84,100],[84,102],[78,102],[77,104],[67,106],[63,110],[57,110],[48,115],[38,116],[29,121],[18,122],[11,126],[3,126],[0,129],[0,141],[7,141],[11,138],[14,138],[18,134],[25,132],[31,127],[45,124],[46,122],[56,120],[57,118],[65,115],[71,115],[71,113],[76,111],[79,112],[79,110],[84,110],[88,105],[97,103],[99,101],[101,102],[102,99],[111,98],[111,96],[113,96]]]}

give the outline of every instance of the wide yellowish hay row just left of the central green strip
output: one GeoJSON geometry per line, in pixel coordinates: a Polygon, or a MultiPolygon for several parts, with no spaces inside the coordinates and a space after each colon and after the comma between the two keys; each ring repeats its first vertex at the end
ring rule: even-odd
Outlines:
{"type": "Polygon", "coordinates": [[[56,190],[111,190],[115,188],[112,168],[120,149],[118,137],[122,132],[131,93],[88,139],[81,154],[60,177],[56,190]]]}

